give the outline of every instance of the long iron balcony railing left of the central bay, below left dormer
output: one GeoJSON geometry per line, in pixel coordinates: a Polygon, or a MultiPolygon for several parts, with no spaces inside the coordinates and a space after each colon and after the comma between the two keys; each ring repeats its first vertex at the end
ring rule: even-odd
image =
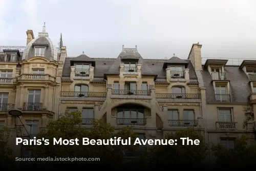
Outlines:
{"type": "Polygon", "coordinates": [[[106,92],[60,92],[60,97],[98,97],[105,98],[106,92]]]}

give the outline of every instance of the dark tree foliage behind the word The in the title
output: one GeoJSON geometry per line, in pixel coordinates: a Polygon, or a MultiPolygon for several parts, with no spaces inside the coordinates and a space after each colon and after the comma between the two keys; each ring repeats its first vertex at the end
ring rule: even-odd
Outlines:
{"type": "Polygon", "coordinates": [[[207,155],[207,145],[200,131],[194,127],[188,127],[185,130],[178,130],[165,136],[167,140],[177,139],[177,145],[156,145],[148,152],[147,157],[156,165],[180,165],[201,164],[207,155]],[[180,138],[189,137],[189,139],[200,140],[199,145],[182,145],[180,138]]]}

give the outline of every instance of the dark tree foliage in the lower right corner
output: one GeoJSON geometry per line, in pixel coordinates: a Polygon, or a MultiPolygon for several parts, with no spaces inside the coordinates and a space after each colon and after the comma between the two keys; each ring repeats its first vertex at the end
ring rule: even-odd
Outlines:
{"type": "Polygon", "coordinates": [[[211,151],[217,158],[216,164],[219,166],[227,166],[237,168],[243,165],[251,165],[256,162],[256,143],[248,143],[246,135],[236,139],[234,148],[225,148],[222,144],[211,145],[211,151]]]}

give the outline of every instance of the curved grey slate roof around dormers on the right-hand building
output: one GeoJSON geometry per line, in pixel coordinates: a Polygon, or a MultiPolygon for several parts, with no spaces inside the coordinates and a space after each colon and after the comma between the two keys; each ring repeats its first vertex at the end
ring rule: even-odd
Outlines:
{"type": "MultiPolygon", "coordinates": [[[[247,103],[251,89],[246,73],[239,66],[225,66],[224,72],[226,79],[230,81],[231,102],[247,103]]],[[[203,68],[202,76],[206,88],[206,101],[215,102],[214,86],[207,69],[203,68]]]]}

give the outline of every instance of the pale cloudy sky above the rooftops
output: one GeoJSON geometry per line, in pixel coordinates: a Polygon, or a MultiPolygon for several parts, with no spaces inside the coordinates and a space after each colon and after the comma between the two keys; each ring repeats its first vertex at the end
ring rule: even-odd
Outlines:
{"type": "Polygon", "coordinates": [[[200,42],[202,57],[256,56],[256,1],[0,0],[0,45],[25,46],[44,22],[50,38],[62,33],[68,56],[115,58],[138,46],[143,58],[187,58],[200,42]]]}

